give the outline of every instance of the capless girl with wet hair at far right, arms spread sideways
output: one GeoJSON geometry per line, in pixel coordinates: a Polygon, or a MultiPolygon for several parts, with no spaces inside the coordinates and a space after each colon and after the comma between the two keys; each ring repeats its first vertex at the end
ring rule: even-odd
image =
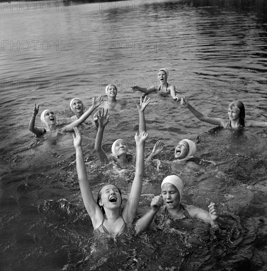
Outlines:
{"type": "Polygon", "coordinates": [[[245,121],[245,106],[240,101],[231,102],[228,106],[228,119],[210,118],[203,115],[195,109],[188,100],[183,97],[181,104],[187,107],[199,120],[208,122],[213,125],[219,125],[223,128],[238,128],[246,126],[267,127],[266,121],[245,121]]]}

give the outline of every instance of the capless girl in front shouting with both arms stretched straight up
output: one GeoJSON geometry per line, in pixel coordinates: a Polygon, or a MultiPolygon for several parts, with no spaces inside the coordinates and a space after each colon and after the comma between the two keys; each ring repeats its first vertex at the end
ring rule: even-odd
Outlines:
{"type": "Polygon", "coordinates": [[[87,171],[84,162],[82,149],[82,136],[77,127],[73,128],[74,147],[76,149],[76,167],[80,189],[86,210],[92,221],[94,232],[99,235],[118,237],[123,233],[130,233],[132,223],[139,204],[143,174],[145,169],[144,148],[148,137],[146,132],[135,135],[136,142],[136,169],[128,202],[120,209],[122,202],[119,188],[114,184],[103,186],[94,200],[87,178],[87,171]]]}

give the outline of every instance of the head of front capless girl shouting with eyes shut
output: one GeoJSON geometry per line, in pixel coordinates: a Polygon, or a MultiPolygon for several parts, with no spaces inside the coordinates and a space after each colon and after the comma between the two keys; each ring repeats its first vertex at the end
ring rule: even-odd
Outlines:
{"type": "Polygon", "coordinates": [[[104,206],[107,204],[111,208],[120,207],[122,196],[119,187],[115,184],[104,185],[97,194],[96,203],[99,205],[103,214],[105,214],[104,206]]]}

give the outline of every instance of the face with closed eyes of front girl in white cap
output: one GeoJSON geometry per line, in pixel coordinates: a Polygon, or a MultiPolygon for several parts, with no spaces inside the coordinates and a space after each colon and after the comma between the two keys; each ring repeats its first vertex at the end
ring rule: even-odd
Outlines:
{"type": "Polygon", "coordinates": [[[161,187],[161,195],[168,209],[176,209],[180,204],[178,189],[171,183],[164,183],[161,187]]]}

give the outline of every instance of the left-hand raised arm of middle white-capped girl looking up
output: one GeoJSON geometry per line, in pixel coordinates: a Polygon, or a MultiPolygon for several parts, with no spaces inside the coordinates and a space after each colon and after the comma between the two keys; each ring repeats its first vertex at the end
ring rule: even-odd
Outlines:
{"type": "Polygon", "coordinates": [[[95,137],[94,150],[100,162],[108,162],[109,159],[105,151],[102,149],[104,129],[109,122],[108,109],[107,110],[104,110],[104,108],[100,109],[96,116],[98,119],[99,126],[95,137]]]}

